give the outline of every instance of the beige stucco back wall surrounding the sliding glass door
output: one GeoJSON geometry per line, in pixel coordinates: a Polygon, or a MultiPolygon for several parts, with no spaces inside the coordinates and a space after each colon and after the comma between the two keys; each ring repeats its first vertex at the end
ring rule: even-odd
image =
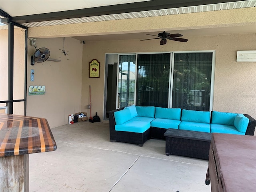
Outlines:
{"type": "MultiPolygon", "coordinates": [[[[250,114],[256,118],[256,62],[236,62],[238,50],[256,50],[256,34],[191,36],[188,42],[119,40],[86,42],[83,46],[82,109],[89,102],[92,86],[92,114],[103,118],[105,53],[216,50],[213,110],[250,114]],[[100,78],[89,78],[89,62],[101,62],[100,78]]],[[[89,110],[88,110],[89,111],[89,110]]]]}

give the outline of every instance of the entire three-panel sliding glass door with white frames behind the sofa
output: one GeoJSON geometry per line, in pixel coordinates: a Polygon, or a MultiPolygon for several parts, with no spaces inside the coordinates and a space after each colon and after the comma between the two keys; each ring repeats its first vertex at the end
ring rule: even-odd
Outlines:
{"type": "Polygon", "coordinates": [[[214,51],[119,55],[117,108],[212,110],[214,51]]]}

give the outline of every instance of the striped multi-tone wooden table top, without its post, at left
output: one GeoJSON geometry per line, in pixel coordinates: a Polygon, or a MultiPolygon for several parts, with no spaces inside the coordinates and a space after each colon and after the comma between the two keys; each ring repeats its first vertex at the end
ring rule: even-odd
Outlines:
{"type": "Polygon", "coordinates": [[[55,151],[45,118],[0,114],[0,157],[55,151]]]}

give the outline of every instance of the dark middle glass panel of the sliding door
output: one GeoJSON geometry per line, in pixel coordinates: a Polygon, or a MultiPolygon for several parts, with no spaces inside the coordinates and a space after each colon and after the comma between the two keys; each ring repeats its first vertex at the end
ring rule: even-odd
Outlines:
{"type": "Polygon", "coordinates": [[[139,54],[136,105],[168,107],[170,53],[139,54]]]}

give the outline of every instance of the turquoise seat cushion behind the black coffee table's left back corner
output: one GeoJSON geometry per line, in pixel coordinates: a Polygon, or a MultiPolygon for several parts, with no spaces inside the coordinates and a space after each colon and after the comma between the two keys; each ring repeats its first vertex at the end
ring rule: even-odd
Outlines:
{"type": "Polygon", "coordinates": [[[156,118],[152,120],[151,126],[164,128],[164,129],[168,129],[168,128],[178,129],[180,122],[181,122],[180,120],[156,118]]]}

